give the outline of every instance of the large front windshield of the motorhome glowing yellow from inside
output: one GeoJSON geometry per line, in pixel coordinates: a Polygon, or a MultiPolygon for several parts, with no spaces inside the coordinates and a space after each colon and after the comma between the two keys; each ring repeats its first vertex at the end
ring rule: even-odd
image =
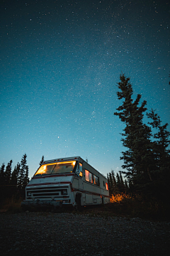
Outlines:
{"type": "Polygon", "coordinates": [[[35,176],[47,175],[47,174],[49,175],[49,174],[72,173],[75,164],[76,164],[76,161],[65,161],[65,162],[53,163],[53,164],[43,164],[35,173],[35,176]]]}

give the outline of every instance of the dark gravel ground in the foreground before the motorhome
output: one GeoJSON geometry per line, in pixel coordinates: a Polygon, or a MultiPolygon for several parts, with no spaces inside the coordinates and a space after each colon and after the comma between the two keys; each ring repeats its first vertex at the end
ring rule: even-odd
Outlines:
{"type": "Polygon", "coordinates": [[[0,214],[4,255],[170,255],[170,223],[74,213],[0,214]]]}

